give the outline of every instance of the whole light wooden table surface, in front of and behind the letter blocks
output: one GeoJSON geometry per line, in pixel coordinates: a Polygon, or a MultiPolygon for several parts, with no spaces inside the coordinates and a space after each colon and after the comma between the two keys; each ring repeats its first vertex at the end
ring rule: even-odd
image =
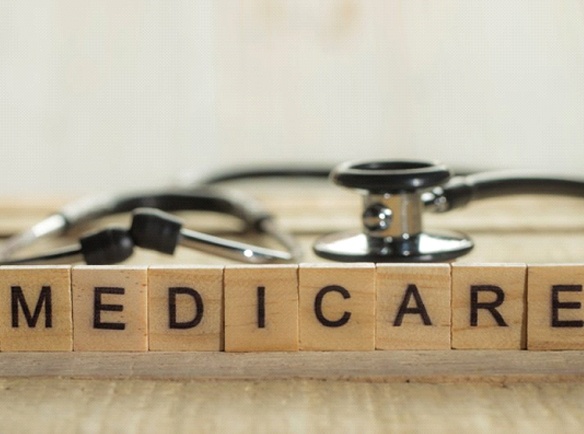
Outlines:
{"type": "MultiPolygon", "coordinates": [[[[309,250],[319,234],[359,225],[359,197],[336,187],[238,188],[297,234],[307,262],[319,261],[309,250]]],[[[0,234],[65,201],[6,198],[0,234]]],[[[505,198],[425,224],[473,236],[477,246],[460,262],[582,262],[583,211],[575,199],[505,198]]],[[[230,219],[184,217],[233,235],[230,219]]],[[[171,262],[229,263],[186,249],[130,260],[171,262]]],[[[583,380],[578,351],[0,353],[0,432],[582,432],[583,380]]]]}

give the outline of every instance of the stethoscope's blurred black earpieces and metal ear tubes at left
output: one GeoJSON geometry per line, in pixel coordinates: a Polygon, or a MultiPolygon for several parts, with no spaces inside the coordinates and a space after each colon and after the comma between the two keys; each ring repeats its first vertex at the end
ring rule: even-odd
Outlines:
{"type": "Polygon", "coordinates": [[[66,205],[26,231],[9,238],[0,248],[0,264],[116,264],[128,259],[134,247],[172,254],[178,245],[243,262],[263,264],[292,262],[299,247],[278,228],[274,217],[256,201],[202,186],[161,192],[90,197],[66,205]],[[183,227],[172,211],[212,211],[243,221],[246,229],[279,242],[284,250],[233,241],[183,227]],[[83,235],[78,244],[41,255],[18,257],[22,249],[48,237],[66,235],[75,228],[109,215],[131,212],[129,228],[107,227],[83,235]]]}

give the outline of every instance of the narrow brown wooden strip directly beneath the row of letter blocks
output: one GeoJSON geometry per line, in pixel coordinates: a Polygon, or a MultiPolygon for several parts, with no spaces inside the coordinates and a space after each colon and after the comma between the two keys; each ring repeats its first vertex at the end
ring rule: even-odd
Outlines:
{"type": "Polygon", "coordinates": [[[584,381],[583,351],[0,353],[1,377],[327,379],[371,382],[584,381]]]}

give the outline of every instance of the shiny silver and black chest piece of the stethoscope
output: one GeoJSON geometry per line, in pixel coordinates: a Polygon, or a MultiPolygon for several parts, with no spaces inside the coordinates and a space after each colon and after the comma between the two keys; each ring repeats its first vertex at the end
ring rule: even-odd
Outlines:
{"type": "Polygon", "coordinates": [[[313,246],[342,262],[429,262],[454,259],[473,248],[463,234],[422,228],[422,194],[448,181],[450,171],[426,162],[344,163],[331,179],[363,194],[362,231],[325,235],[313,246]]]}

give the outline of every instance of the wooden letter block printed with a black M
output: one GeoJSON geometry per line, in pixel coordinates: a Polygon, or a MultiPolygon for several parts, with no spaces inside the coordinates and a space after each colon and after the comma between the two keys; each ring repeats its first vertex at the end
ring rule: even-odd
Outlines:
{"type": "Polygon", "coordinates": [[[0,267],[2,351],[71,351],[70,267],[0,267]]]}

